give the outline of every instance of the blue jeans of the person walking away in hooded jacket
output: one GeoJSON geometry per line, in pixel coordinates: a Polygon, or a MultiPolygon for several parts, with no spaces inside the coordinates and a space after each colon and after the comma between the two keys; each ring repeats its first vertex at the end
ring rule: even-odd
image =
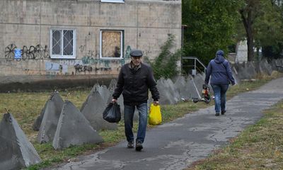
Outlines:
{"type": "Polygon", "coordinates": [[[229,84],[211,84],[214,91],[215,113],[226,111],[226,91],[229,84]]]}

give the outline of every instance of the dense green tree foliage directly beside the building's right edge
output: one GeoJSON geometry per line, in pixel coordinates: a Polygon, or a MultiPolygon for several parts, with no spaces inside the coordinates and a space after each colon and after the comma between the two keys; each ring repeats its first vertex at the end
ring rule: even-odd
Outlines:
{"type": "Polygon", "coordinates": [[[236,0],[199,1],[183,0],[185,55],[196,56],[208,63],[216,50],[228,52],[236,43],[236,23],[240,19],[236,0]]]}

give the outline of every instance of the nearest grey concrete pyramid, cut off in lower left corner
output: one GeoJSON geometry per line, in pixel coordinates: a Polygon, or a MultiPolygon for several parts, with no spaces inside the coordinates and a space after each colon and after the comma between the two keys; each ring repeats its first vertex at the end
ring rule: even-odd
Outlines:
{"type": "Polygon", "coordinates": [[[0,169],[21,169],[41,162],[35,148],[11,113],[0,123],[0,169]]]}

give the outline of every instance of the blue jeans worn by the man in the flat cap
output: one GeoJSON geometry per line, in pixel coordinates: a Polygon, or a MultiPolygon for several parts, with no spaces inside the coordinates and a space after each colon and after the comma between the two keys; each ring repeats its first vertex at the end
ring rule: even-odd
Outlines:
{"type": "MultiPolygon", "coordinates": [[[[124,105],[124,120],[125,120],[125,135],[127,141],[134,141],[133,118],[135,106],[124,105]]],[[[144,142],[146,137],[146,125],[147,125],[147,103],[141,103],[137,105],[139,111],[139,129],[137,131],[137,140],[144,142]]]]}

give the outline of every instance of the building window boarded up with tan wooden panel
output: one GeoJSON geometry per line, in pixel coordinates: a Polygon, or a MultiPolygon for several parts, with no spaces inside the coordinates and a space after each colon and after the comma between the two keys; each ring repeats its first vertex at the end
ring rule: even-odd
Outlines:
{"type": "Polygon", "coordinates": [[[123,31],[100,30],[100,58],[120,59],[123,54],[123,31]]]}

